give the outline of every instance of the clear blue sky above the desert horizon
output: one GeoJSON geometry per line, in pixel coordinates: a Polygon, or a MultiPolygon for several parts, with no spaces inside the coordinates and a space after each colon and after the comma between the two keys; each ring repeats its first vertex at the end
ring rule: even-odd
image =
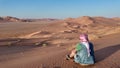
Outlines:
{"type": "Polygon", "coordinates": [[[18,18],[120,17],[120,0],[0,0],[0,16],[18,18]]]}

